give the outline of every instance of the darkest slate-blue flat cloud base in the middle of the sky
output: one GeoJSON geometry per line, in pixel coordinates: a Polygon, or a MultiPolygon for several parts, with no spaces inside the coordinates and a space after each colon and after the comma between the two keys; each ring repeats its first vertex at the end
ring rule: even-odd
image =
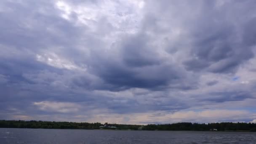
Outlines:
{"type": "Polygon", "coordinates": [[[105,82],[120,88],[157,88],[168,85],[170,80],[179,80],[181,75],[171,66],[144,67],[129,69],[118,65],[105,65],[96,69],[105,82]],[[161,75],[159,75],[161,74],[161,75]]]}

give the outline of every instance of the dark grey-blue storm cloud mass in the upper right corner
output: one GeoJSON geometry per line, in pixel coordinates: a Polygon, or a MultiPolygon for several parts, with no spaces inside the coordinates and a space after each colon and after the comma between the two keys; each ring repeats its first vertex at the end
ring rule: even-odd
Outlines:
{"type": "MultiPolygon", "coordinates": [[[[251,1],[253,4],[255,2],[251,1]]],[[[235,72],[240,64],[254,56],[251,46],[255,45],[255,32],[248,31],[254,23],[253,13],[242,10],[242,15],[248,17],[241,14],[235,16],[240,7],[233,2],[225,3],[220,8],[214,3],[203,5],[204,14],[192,21],[190,33],[194,40],[190,53],[196,59],[184,64],[189,70],[205,68],[211,72],[235,72]]]]}

